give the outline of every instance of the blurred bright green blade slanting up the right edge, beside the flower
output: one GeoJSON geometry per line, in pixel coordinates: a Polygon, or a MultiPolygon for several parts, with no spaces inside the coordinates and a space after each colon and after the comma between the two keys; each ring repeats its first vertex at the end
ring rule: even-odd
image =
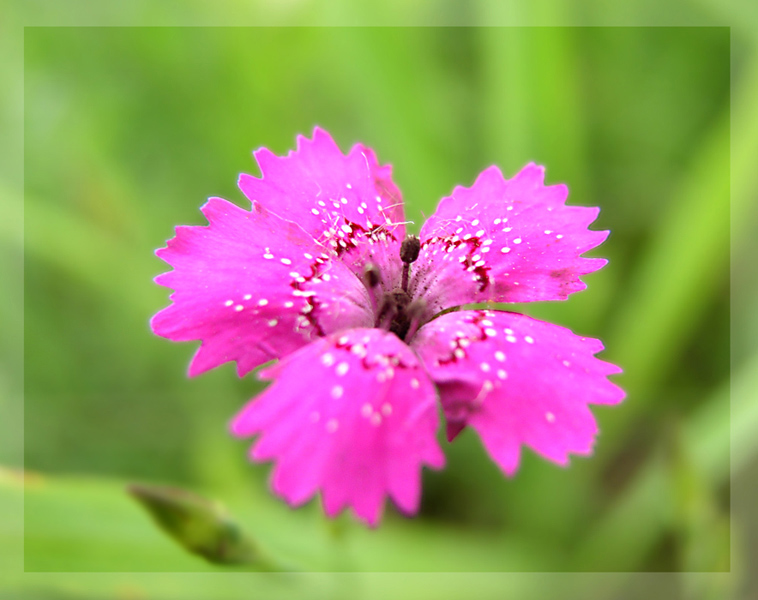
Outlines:
{"type": "Polygon", "coordinates": [[[737,89],[731,119],[727,109],[695,155],[616,312],[608,347],[611,358],[626,370],[624,383],[631,394],[618,422],[611,420],[606,428],[617,444],[623,436],[615,436],[616,431],[628,429],[633,415],[655,397],[651,390],[680,356],[709,302],[723,290],[730,239],[737,245],[746,233],[758,181],[758,61],[750,67],[750,78],[737,89]]]}

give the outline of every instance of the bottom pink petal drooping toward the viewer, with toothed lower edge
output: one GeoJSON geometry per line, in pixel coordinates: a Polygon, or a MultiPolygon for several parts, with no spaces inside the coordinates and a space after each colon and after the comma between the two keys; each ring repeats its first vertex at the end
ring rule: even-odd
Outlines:
{"type": "Polygon", "coordinates": [[[251,456],[273,459],[274,491],[298,505],[317,489],[326,512],[352,506],[375,525],[385,493],[418,510],[421,465],[439,468],[435,391],[416,355],[394,334],[330,335],[261,373],[275,382],[234,419],[260,433],[251,456]]]}

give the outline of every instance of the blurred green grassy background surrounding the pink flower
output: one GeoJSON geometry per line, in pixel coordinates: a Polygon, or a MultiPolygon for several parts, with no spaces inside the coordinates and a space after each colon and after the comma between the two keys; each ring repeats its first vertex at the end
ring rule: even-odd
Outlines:
{"type": "MultiPolygon", "coordinates": [[[[742,300],[731,310],[747,326],[731,339],[730,463],[730,117],[739,259],[755,245],[740,225],[755,197],[746,157],[758,69],[728,28],[34,28],[24,52],[27,472],[10,450],[20,433],[8,432],[0,489],[26,492],[27,571],[104,574],[96,592],[73,580],[42,592],[28,578],[9,589],[246,597],[228,578],[211,592],[106,574],[229,570],[158,531],[123,492],[133,481],[221,501],[270,554],[305,571],[746,562],[730,536],[730,464],[758,453],[758,293],[732,281],[742,300]],[[232,365],[189,380],[194,345],[150,333],[168,296],[151,281],[166,270],[153,251],[175,225],[204,224],[208,196],[245,206],[236,178],[257,174],[251,150],[285,153],[317,124],[343,150],[360,141],[393,164],[416,229],[490,164],[511,175],[534,160],[549,183],[569,185],[570,203],[601,207],[594,227],[612,233],[592,255],[610,264],[567,302],[519,307],[601,338],[602,357],[624,368],[626,402],[594,410],[592,458],[561,469],[527,451],[509,480],[467,432],[442,442],[448,465],[425,473],[420,515],[388,507],[377,530],[350,516],[329,522],[318,501],[291,511],[271,496],[270,466],[249,464],[248,444],[227,434],[260,385],[232,365]]],[[[267,579],[259,591],[376,597],[370,581],[267,579]]],[[[514,593],[549,587],[539,585],[514,593]]]]}

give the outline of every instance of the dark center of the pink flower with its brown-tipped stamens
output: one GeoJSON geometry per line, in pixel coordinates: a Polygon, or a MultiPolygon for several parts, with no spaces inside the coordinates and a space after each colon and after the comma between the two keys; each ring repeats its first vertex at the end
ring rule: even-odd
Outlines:
{"type": "Polygon", "coordinates": [[[376,266],[368,265],[365,272],[366,287],[372,295],[376,311],[375,326],[385,331],[391,331],[401,340],[410,341],[422,325],[426,302],[413,299],[408,293],[408,280],[411,263],[415,262],[421,251],[418,236],[408,235],[400,246],[400,260],[403,262],[403,273],[400,287],[391,292],[385,292],[380,298],[374,294],[378,290],[381,277],[376,266]],[[375,299],[376,298],[376,299],[375,299]]]}

